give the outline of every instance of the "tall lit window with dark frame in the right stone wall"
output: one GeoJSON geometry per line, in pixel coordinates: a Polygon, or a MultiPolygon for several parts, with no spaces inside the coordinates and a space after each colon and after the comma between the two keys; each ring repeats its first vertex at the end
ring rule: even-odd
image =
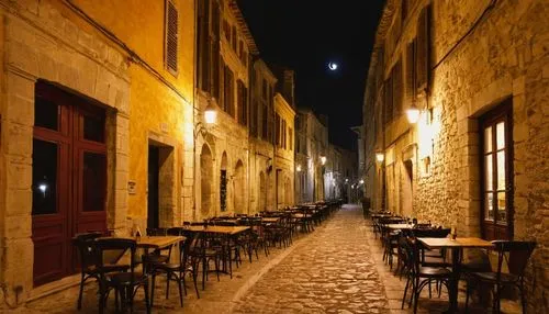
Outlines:
{"type": "Polygon", "coordinates": [[[481,117],[482,234],[486,239],[513,237],[513,147],[511,100],[481,117]]]}

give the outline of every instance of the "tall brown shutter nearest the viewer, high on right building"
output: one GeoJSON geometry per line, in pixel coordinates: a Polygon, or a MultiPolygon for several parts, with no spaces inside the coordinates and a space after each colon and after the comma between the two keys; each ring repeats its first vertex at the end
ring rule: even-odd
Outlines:
{"type": "Polygon", "coordinates": [[[418,92],[428,89],[430,67],[430,5],[422,9],[417,21],[416,88],[418,92]]]}

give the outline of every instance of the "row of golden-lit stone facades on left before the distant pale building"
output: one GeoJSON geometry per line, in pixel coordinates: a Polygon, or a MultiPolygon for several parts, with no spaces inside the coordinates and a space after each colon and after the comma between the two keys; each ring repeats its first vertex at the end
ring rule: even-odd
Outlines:
{"type": "Polygon", "coordinates": [[[0,0],[0,309],[78,282],[77,233],[276,209],[278,172],[293,202],[293,80],[276,94],[236,1],[0,0]]]}

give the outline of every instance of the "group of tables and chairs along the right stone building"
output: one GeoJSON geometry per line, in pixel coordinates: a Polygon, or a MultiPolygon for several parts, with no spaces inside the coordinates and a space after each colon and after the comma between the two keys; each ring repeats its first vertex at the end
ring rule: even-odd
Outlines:
{"type": "Polygon", "coordinates": [[[416,313],[422,299],[446,294],[448,312],[460,310],[458,301],[464,301],[468,311],[473,291],[481,295],[489,291],[491,302],[481,300],[478,305],[501,312],[503,295],[515,292],[505,290],[511,287],[516,288],[523,313],[526,312],[524,276],[535,242],[461,237],[457,236],[455,227],[418,222],[390,212],[372,212],[370,218],[374,238],[382,246],[382,260],[393,271],[392,276],[406,282],[402,291],[402,310],[408,307],[416,313]],[[468,249],[484,251],[489,257],[486,265],[469,262],[468,249]],[[467,290],[466,300],[458,300],[460,282],[467,290]]]}

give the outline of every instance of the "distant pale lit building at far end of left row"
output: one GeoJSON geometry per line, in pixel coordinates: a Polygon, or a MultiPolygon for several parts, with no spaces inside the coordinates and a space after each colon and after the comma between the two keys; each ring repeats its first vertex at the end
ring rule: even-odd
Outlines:
{"type": "Polygon", "coordinates": [[[296,203],[324,200],[323,169],[327,148],[327,119],[317,116],[310,109],[299,108],[295,119],[296,203]]]}

